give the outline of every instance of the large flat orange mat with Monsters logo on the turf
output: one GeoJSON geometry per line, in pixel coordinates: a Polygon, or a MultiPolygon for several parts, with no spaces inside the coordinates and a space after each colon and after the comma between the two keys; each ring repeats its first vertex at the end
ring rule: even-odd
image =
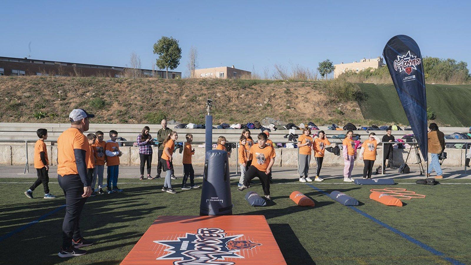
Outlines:
{"type": "Polygon", "coordinates": [[[159,216],[121,264],[286,264],[263,215],[159,216]]]}

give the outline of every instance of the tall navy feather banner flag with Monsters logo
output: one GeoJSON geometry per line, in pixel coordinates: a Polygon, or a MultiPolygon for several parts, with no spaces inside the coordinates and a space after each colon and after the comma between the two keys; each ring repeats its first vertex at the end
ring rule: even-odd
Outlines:
{"type": "Polygon", "coordinates": [[[423,160],[427,161],[427,98],[419,46],[411,37],[397,35],[384,46],[383,57],[423,160]]]}

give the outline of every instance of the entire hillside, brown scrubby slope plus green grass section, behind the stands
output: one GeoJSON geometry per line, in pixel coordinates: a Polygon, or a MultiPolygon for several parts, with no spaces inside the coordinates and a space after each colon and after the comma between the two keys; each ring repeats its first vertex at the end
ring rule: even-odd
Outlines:
{"type": "MultiPolygon", "coordinates": [[[[159,124],[167,117],[201,124],[207,98],[214,99],[214,124],[265,117],[296,124],[407,124],[393,85],[52,76],[1,76],[0,121],[64,123],[71,109],[85,108],[97,115],[94,123],[159,124]]],[[[427,99],[439,124],[471,124],[471,85],[427,85],[427,99]]]]}

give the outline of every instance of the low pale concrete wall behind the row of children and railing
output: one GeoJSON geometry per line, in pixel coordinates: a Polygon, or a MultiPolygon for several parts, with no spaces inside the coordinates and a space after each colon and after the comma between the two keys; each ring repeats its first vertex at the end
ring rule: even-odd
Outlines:
{"type": "MultiPolygon", "coordinates": [[[[138,166],[140,163],[139,149],[137,147],[123,146],[120,148],[123,152],[120,157],[121,165],[124,166],[138,166]]],[[[25,145],[0,145],[0,165],[24,165],[26,163],[25,145]]],[[[33,165],[33,151],[34,144],[28,144],[28,162],[33,165]]],[[[394,149],[394,165],[399,166],[406,161],[409,149],[394,149]]],[[[158,149],[154,147],[154,156],[152,157],[152,164],[157,165],[158,162],[158,149]]],[[[298,149],[290,148],[277,148],[275,149],[276,158],[274,166],[296,167],[298,166],[298,149]]],[[[446,149],[447,159],[443,162],[443,166],[464,166],[465,150],[464,149],[446,149]]],[[[382,151],[378,150],[375,166],[381,165],[382,151]]],[[[49,163],[51,166],[57,166],[57,146],[48,145],[49,163]]],[[[195,155],[193,156],[194,166],[204,165],[204,147],[195,146],[195,155]]],[[[430,156],[429,156],[430,159],[430,156]]],[[[409,166],[418,166],[411,164],[417,162],[414,151],[410,154],[407,161],[409,166]]],[[[173,163],[175,166],[182,164],[182,154],[178,151],[174,153],[173,163]]],[[[235,150],[229,158],[229,164],[235,166],[237,164],[235,150]]],[[[423,164],[425,166],[425,163],[423,164]]],[[[310,167],[316,166],[316,159],[311,157],[310,167]]],[[[343,157],[335,156],[333,153],[325,152],[323,166],[343,166],[343,157]]],[[[356,167],[363,167],[363,161],[357,159],[355,161],[356,167]]]]}

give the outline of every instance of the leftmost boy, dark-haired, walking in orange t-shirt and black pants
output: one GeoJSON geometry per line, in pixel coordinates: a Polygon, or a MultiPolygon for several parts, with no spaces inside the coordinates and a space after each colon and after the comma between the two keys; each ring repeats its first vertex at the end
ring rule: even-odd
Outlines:
{"type": "Polygon", "coordinates": [[[33,199],[32,191],[42,183],[44,188],[44,199],[54,199],[56,196],[49,193],[49,159],[48,150],[44,143],[44,140],[48,139],[48,130],[38,129],[36,134],[38,135],[39,140],[34,144],[34,168],[36,168],[38,179],[32,184],[29,190],[24,192],[24,195],[33,199]]]}

